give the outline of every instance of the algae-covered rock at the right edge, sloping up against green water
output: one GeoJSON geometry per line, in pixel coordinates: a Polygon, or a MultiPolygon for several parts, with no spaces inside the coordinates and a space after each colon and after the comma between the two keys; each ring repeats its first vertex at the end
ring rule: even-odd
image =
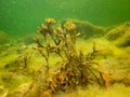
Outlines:
{"type": "Polygon", "coordinates": [[[109,41],[114,41],[116,45],[129,46],[130,45],[130,23],[127,22],[117,26],[108,31],[105,36],[109,41]]]}

